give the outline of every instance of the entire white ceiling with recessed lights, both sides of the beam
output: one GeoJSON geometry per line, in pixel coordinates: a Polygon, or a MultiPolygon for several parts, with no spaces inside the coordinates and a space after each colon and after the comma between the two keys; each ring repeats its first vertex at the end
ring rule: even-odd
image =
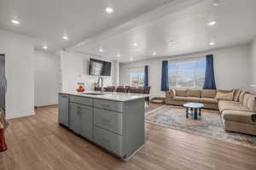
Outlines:
{"type": "Polygon", "coordinates": [[[66,48],[120,62],[252,42],[256,1],[220,0],[218,7],[213,1],[0,0],[0,29],[33,37],[36,48],[46,43],[52,51],[66,48]],[[19,26],[11,23],[14,17],[19,26]],[[207,26],[212,20],[217,24],[207,26]]]}

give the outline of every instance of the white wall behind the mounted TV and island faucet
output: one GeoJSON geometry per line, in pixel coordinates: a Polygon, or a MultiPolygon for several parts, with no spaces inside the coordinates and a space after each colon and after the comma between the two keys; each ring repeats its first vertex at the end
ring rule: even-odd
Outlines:
{"type": "MultiPolygon", "coordinates": [[[[89,74],[89,60],[90,58],[102,59],[87,54],[79,54],[75,52],[61,51],[61,82],[62,91],[74,90],[78,88],[78,82],[84,82],[86,90],[94,88],[93,83],[97,82],[97,76],[90,76],[89,74]]],[[[107,60],[108,59],[102,59],[107,60]]],[[[113,63],[111,77],[103,77],[104,87],[113,84],[113,63]]]]}

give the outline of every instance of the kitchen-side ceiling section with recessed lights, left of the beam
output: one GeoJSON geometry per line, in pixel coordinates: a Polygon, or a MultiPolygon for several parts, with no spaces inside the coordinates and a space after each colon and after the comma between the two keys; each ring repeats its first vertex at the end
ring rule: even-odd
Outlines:
{"type": "Polygon", "coordinates": [[[0,0],[0,29],[34,37],[36,48],[67,48],[173,0],[0,0]],[[105,8],[113,8],[107,14],[105,8]],[[14,26],[10,20],[20,21],[14,26]],[[62,40],[67,34],[68,41],[62,40]]]}

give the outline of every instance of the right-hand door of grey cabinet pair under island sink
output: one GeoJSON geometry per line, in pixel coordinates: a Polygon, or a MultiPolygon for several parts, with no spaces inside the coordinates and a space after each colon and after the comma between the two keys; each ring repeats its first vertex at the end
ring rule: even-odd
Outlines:
{"type": "Polygon", "coordinates": [[[81,115],[81,135],[92,140],[92,107],[81,105],[79,111],[81,115]]]}

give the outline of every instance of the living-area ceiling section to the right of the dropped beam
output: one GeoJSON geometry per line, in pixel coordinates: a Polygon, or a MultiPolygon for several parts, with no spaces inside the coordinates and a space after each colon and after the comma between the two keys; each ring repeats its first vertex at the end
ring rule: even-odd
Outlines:
{"type": "MultiPolygon", "coordinates": [[[[147,22],[125,31],[117,28],[112,34],[103,33],[99,38],[85,40],[71,48],[80,53],[118,59],[120,62],[154,57],[191,54],[252,42],[256,37],[256,1],[223,0],[218,7],[212,0],[198,1],[150,20],[165,8],[145,15],[147,22]],[[214,26],[207,23],[215,20],[214,26]],[[106,35],[104,37],[104,34],[106,35]],[[174,42],[172,42],[174,41],[174,42]],[[137,42],[137,46],[133,43],[137,42]],[[209,42],[215,42],[210,46],[209,42]],[[99,51],[102,48],[102,52],[99,51]],[[156,53],[153,55],[153,53],[156,53]],[[117,57],[120,54],[120,57],[117,57]]],[[[139,20],[137,20],[138,22],[139,20]]]]}

